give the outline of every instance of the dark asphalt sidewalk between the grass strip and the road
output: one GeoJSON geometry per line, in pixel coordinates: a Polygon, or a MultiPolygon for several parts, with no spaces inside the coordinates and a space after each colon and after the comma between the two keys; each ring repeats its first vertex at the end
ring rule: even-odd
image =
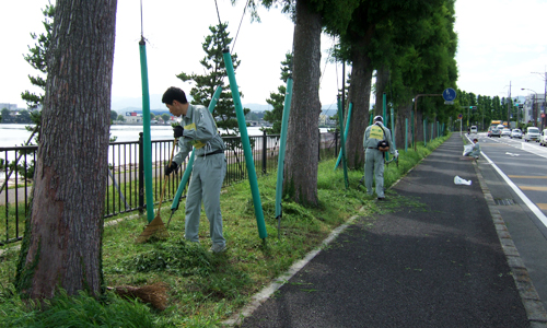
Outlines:
{"type": "Polygon", "coordinates": [[[384,213],[358,218],[274,295],[257,295],[260,306],[236,325],[547,327],[480,172],[462,151],[454,133],[388,191],[384,213]],[[456,175],[473,184],[455,185],[456,175]],[[394,203],[404,206],[389,213],[394,203]]]}

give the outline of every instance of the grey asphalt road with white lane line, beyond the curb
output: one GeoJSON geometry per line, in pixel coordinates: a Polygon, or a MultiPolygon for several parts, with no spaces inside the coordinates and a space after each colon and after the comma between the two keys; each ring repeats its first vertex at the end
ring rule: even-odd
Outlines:
{"type": "Polygon", "coordinates": [[[547,148],[520,139],[487,138],[481,133],[479,142],[482,153],[494,164],[482,156],[477,162],[480,173],[547,308],[547,226],[545,219],[538,218],[521,197],[523,194],[547,215],[547,148]]]}

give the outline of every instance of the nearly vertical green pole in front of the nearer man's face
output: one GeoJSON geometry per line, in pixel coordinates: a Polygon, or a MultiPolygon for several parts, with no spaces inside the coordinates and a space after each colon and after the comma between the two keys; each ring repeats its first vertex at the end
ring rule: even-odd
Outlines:
{"type": "Polygon", "coordinates": [[[152,138],[150,136],[150,96],[148,92],[148,65],[147,65],[147,44],[141,38],[140,49],[140,75],[142,80],[142,137],[144,148],[144,190],[147,199],[147,220],[148,223],[154,220],[154,198],[152,195],[152,138]]]}

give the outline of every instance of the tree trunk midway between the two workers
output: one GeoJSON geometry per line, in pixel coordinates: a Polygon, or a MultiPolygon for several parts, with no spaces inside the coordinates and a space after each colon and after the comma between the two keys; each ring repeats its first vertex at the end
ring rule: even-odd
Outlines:
{"type": "Polygon", "coordinates": [[[317,206],[321,32],[321,14],[312,12],[306,0],[296,0],[284,190],[311,206],[317,206]]]}

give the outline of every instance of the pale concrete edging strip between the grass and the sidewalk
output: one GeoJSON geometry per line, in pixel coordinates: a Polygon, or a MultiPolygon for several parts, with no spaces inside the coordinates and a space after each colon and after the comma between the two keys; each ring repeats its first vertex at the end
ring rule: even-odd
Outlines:
{"type": "MultiPolygon", "coordinates": [[[[362,208],[360,209],[360,211],[362,208]]],[[[333,230],[328,237],[321,243],[321,245],[310,251],[303,259],[294,262],[289,270],[287,270],[286,273],[279,276],[278,278],[274,279],[272,282],[270,282],[266,288],[264,288],[261,291],[258,293],[254,294],[251,297],[251,302],[245,305],[238,313],[232,315],[229,319],[224,320],[222,325],[226,326],[235,326],[235,325],[241,325],[243,323],[243,319],[245,317],[248,317],[253,314],[255,309],[260,306],[266,300],[268,300],[277,290],[279,290],[283,284],[286,284],[296,272],[299,272],[305,265],[307,265],[317,254],[321,253],[321,250],[328,246],[340,233],[342,233],[348,226],[350,226],[358,218],[359,215],[353,215],[351,216],[346,223],[342,225],[338,226],[337,229],[333,230]]]]}

